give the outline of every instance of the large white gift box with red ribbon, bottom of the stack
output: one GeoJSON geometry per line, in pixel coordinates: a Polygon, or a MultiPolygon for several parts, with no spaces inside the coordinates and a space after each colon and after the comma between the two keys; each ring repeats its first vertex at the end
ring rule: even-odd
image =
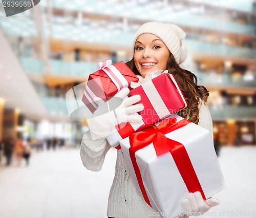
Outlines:
{"type": "Polygon", "coordinates": [[[181,214],[189,192],[208,199],[225,188],[209,130],[176,114],[120,145],[137,192],[162,217],[181,214]]]}

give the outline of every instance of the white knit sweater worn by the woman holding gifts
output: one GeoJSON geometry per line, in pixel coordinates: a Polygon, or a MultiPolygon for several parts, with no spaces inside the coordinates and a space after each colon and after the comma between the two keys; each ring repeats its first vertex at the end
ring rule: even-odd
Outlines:
{"type": "MultiPolygon", "coordinates": [[[[203,103],[199,104],[198,125],[208,129],[212,133],[212,119],[208,107],[203,103]]],[[[104,133],[103,129],[101,131],[98,131],[97,126],[91,127],[84,134],[81,142],[80,156],[82,163],[84,167],[92,171],[99,171],[101,169],[105,155],[111,148],[104,138],[106,133],[104,133]],[[100,133],[101,131],[103,138],[92,140],[94,134],[100,133]]],[[[132,178],[130,177],[129,169],[127,169],[124,161],[122,150],[117,150],[115,177],[110,190],[107,215],[117,218],[160,217],[153,216],[153,214],[156,214],[156,211],[148,206],[137,194],[132,178]]]]}

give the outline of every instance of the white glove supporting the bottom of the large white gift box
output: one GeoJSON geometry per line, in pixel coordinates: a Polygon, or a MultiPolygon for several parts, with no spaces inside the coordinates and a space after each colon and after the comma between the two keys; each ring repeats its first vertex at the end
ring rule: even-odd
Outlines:
{"type": "Polygon", "coordinates": [[[203,197],[199,191],[195,193],[189,193],[185,199],[181,201],[183,208],[183,215],[199,216],[207,212],[210,208],[219,205],[220,202],[216,198],[209,198],[203,200],[203,197]]]}

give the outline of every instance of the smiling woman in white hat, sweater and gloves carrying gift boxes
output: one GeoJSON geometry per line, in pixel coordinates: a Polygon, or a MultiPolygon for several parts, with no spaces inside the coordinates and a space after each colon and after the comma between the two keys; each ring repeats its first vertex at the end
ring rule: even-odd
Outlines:
{"type": "MultiPolygon", "coordinates": [[[[208,91],[203,86],[197,85],[197,77],[193,73],[179,66],[186,58],[186,49],[183,44],[185,36],[185,32],[177,25],[158,22],[146,23],[135,34],[134,56],[126,64],[140,79],[157,70],[168,70],[168,73],[173,74],[188,102],[188,106],[179,112],[179,115],[207,128],[212,133],[212,120],[205,103],[208,91]]],[[[127,88],[118,93],[119,97],[122,98],[127,97],[128,94],[127,88]]],[[[125,101],[130,103],[125,105],[129,109],[124,111],[129,111],[129,113],[141,111],[143,105],[136,104],[139,100],[140,96],[126,98],[125,101]]],[[[123,116],[129,115],[124,114],[123,116]]],[[[134,122],[141,121],[139,115],[137,117],[132,115],[131,118],[134,119],[134,122]]],[[[110,134],[110,129],[117,124],[120,123],[113,111],[91,119],[89,131],[84,134],[80,148],[81,160],[87,169],[92,171],[101,169],[106,152],[111,147],[106,141],[106,136],[110,134]],[[93,140],[94,138],[97,140],[93,140]]],[[[187,214],[191,214],[191,212],[203,214],[211,207],[216,206],[218,200],[210,198],[203,201],[200,192],[195,192],[189,193],[181,204],[184,213],[180,217],[187,217],[187,214]]],[[[137,193],[130,171],[124,161],[122,150],[117,150],[116,172],[110,190],[107,215],[115,218],[160,218],[158,213],[148,206],[137,193]]]]}

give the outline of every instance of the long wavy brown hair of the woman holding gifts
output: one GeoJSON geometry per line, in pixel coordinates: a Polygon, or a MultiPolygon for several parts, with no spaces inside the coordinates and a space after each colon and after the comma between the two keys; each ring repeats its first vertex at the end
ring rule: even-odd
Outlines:
{"type": "MultiPolygon", "coordinates": [[[[138,72],[134,59],[126,62],[126,65],[136,74],[140,75],[138,72]]],[[[177,83],[179,84],[180,90],[182,91],[186,101],[187,107],[182,111],[178,112],[178,115],[188,119],[190,122],[198,124],[199,122],[199,109],[198,104],[200,103],[200,98],[202,102],[206,102],[209,92],[202,85],[197,85],[197,77],[190,71],[180,68],[179,64],[174,59],[172,53],[170,53],[169,59],[167,61],[168,73],[173,74],[177,83]]]]}

